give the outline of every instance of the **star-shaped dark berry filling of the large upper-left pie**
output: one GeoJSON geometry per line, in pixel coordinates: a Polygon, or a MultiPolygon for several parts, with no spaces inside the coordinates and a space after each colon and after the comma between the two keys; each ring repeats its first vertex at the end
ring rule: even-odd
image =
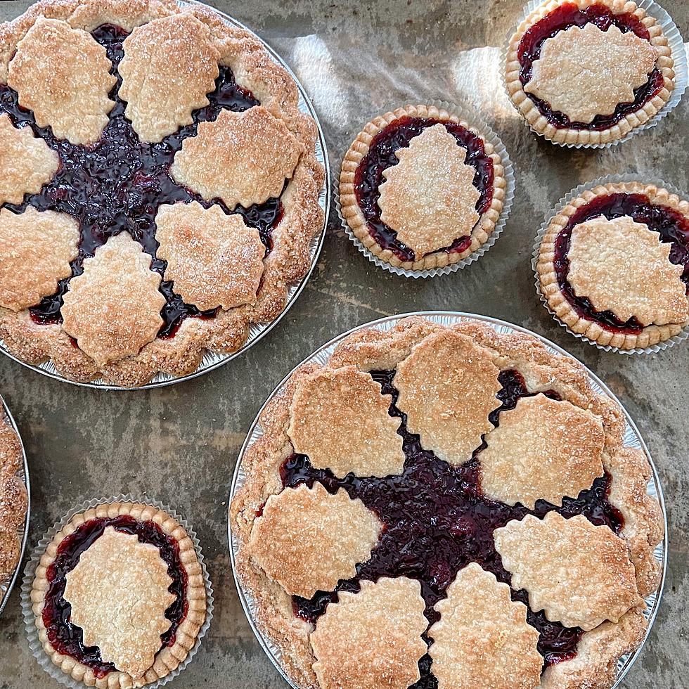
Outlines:
{"type": "MultiPolygon", "coordinates": [[[[124,117],[125,103],[120,99],[122,79],[117,66],[122,60],[122,41],[127,32],[105,24],[93,32],[94,39],[105,46],[112,60],[110,72],[117,76],[117,84],[110,93],[115,107],[110,112],[110,122],[100,141],[91,146],[75,146],[64,139],[56,139],[50,127],[37,127],[32,112],[22,108],[13,89],[0,84],[0,113],[7,112],[12,122],[31,127],[34,134],[56,150],[60,167],[55,178],[37,194],[28,196],[20,205],[8,205],[14,212],[22,212],[27,206],[38,210],[55,210],[68,213],[79,221],[81,239],[79,255],[72,262],[72,277],[82,273],[84,258],[122,231],[128,231],[153,257],[151,269],[161,275],[167,263],[155,257],[158,243],[155,240],[155,215],[161,204],[178,201],[198,201],[204,207],[219,205],[225,213],[240,214],[247,225],[259,230],[266,246],[271,249],[271,233],[281,220],[283,207],[279,198],[272,198],[262,205],[249,208],[238,206],[229,209],[219,199],[203,200],[200,195],[176,183],[169,174],[174,154],[184,139],[196,134],[199,122],[215,120],[220,110],[240,112],[258,105],[259,101],[235,81],[229,67],[220,67],[215,90],[208,94],[210,101],[205,108],[195,110],[194,122],[166,136],[160,143],[139,141],[131,123],[124,117]]],[[[36,323],[61,323],[60,309],[71,278],[60,281],[54,295],[45,297],[30,309],[36,323]]],[[[212,318],[217,310],[200,311],[187,304],[174,292],[172,282],[162,281],[160,291],[166,304],[161,311],[164,321],[160,337],[174,335],[176,328],[187,316],[212,318]]]]}

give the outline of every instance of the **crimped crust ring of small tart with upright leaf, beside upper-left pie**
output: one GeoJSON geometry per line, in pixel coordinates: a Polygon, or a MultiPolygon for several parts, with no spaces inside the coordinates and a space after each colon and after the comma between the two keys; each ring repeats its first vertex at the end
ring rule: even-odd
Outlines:
{"type": "Polygon", "coordinates": [[[381,261],[389,263],[404,270],[418,271],[432,268],[442,268],[449,264],[462,261],[472,252],[475,252],[481,245],[487,242],[491,232],[494,230],[505,202],[507,181],[504,176],[505,169],[501,157],[495,152],[494,147],[485,141],[484,135],[463,122],[458,115],[437,108],[435,105],[405,105],[404,108],[397,108],[393,112],[386,112],[385,115],[378,115],[371,122],[366,124],[354,139],[352,146],[349,147],[342,160],[342,171],[340,172],[340,206],[342,207],[342,218],[357,239],[381,261]],[[383,249],[368,232],[366,220],[359,209],[354,191],[354,175],[359,163],[368,153],[373,137],[385,129],[388,124],[401,117],[429,117],[439,122],[458,122],[463,127],[469,129],[484,141],[486,154],[493,160],[494,166],[494,192],[491,205],[486,210],[478,222],[473,227],[471,245],[463,252],[431,252],[415,261],[401,261],[389,249],[383,249]]]}

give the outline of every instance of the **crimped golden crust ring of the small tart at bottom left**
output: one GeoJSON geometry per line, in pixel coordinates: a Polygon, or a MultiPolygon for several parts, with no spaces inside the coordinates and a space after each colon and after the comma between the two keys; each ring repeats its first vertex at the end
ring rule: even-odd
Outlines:
{"type": "Polygon", "coordinates": [[[30,598],[39,641],[43,645],[43,650],[65,674],[72,676],[77,681],[82,681],[87,686],[96,686],[98,689],[130,689],[131,687],[143,686],[165,677],[176,667],[179,667],[196,643],[198,633],[205,622],[207,610],[205,581],[193,541],[174,517],[163,510],[142,503],[101,503],[94,508],[74,515],[46,546],[45,553],[41,556],[34,574],[30,598]],[[176,631],[172,646],[166,646],[157,653],[155,662],[143,674],[143,677],[139,678],[139,681],[137,678],[120,671],[112,671],[101,678],[97,678],[94,671],[89,667],[76,662],[69,656],[60,654],[53,648],[48,639],[42,617],[44,598],[49,587],[46,573],[56,558],[60,542],[75,532],[84,522],[96,517],[117,517],[118,515],[130,515],[136,520],[155,522],[164,534],[176,541],[179,547],[179,559],[187,576],[186,617],[176,631]]]}

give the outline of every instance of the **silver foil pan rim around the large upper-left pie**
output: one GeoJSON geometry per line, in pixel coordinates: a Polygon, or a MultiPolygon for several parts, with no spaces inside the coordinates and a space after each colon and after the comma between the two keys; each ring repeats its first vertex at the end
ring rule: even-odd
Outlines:
{"type": "Polygon", "coordinates": [[[257,34],[255,34],[255,32],[246,27],[242,22],[236,20],[230,15],[225,14],[224,12],[217,10],[214,7],[210,7],[209,5],[202,2],[198,2],[197,0],[178,0],[178,4],[181,7],[199,5],[206,9],[212,9],[214,12],[220,15],[221,18],[229,25],[239,29],[243,29],[249,34],[251,34],[252,37],[261,42],[264,49],[266,49],[266,51],[268,52],[269,56],[271,56],[271,58],[275,60],[275,62],[278,63],[278,65],[283,67],[288,72],[290,77],[294,79],[295,84],[297,84],[297,89],[299,91],[299,109],[302,112],[306,112],[307,115],[313,117],[314,122],[316,122],[316,127],[318,129],[318,138],[316,139],[316,160],[318,160],[318,162],[320,162],[321,165],[323,165],[326,171],[326,181],[323,184],[323,188],[321,189],[320,194],[318,195],[318,205],[324,212],[323,228],[321,228],[321,231],[311,240],[311,245],[309,246],[309,254],[311,256],[311,267],[309,268],[309,271],[300,282],[293,283],[289,286],[285,307],[281,311],[281,313],[278,314],[278,316],[269,323],[252,323],[249,326],[249,336],[247,337],[246,342],[239,349],[237,349],[236,352],[231,352],[230,354],[222,354],[221,352],[211,352],[207,349],[203,354],[201,363],[199,364],[198,368],[195,371],[193,371],[193,373],[188,373],[187,375],[171,375],[169,373],[162,373],[159,371],[145,385],[139,385],[136,387],[112,385],[108,382],[105,382],[102,378],[90,380],[89,382],[79,382],[77,380],[70,380],[69,378],[65,378],[65,376],[58,373],[57,369],[55,368],[55,365],[50,359],[48,361],[44,361],[42,363],[35,365],[27,363],[26,361],[22,361],[17,356],[9,352],[4,341],[0,338],[0,352],[2,352],[2,354],[5,354],[10,359],[13,359],[17,363],[20,363],[22,366],[30,368],[32,371],[37,371],[37,373],[42,373],[43,375],[49,376],[49,378],[53,378],[55,380],[62,380],[63,382],[68,382],[72,385],[79,385],[81,387],[94,387],[96,389],[101,390],[145,390],[152,389],[155,387],[166,387],[167,385],[174,385],[177,382],[183,382],[185,380],[191,380],[192,378],[198,378],[198,376],[202,375],[203,373],[213,371],[215,368],[219,368],[219,366],[222,366],[224,363],[228,363],[228,361],[235,359],[236,356],[240,356],[240,354],[246,352],[247,349],[250,349],[250,347],[259,342],[259,340],[261,340],[265,335],[267,335],[282,320],[285,314],[287,314],[287,312],[290,310],[290,307],[292,307],[292,304],[294,304],[294,302],[297,300],[297,297],[299,297],[299,295],[304,290],[304,287],[306,286],[307,282],[309,281],[309,278],[311,277],[311,273],[313,273],[314,268],[316,267],[318,256],[321,254],[323,242],[326,238],[326,228],[328,227],[328,215],[330,213],[330,164],[328,162],[326,137],[323,134],[321,122],[318,120],[316,110],[314,109],[314,106],[311,104],[311,101],[309,100],[309,96],[307,96],[307,93],[304,90],[304,86],[302,86],[299,79],[297,79],[295,73],[292,72],[288,64],[285,63],[285,60],[283,60],[283,58],[281,58],[281,56],[279,56],[278,53],[273,48],[271,48],[271,46],[269,46],[261,37],[259,37],[257,34]]]}

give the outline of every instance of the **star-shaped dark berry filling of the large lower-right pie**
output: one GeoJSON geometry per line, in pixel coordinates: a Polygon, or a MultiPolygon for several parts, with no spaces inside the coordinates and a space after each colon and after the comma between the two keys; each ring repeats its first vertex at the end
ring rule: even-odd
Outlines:
{"type": "MultiPolygon", "coordinates": [[[[397,389],[394,387],[394,371],[373,371],[373,379],[382,386],[383,394],[392,395],[389,414],[401,419],[397,431],[403,439],[406,461],[404,472],[385,478],[359,478],[352,474],[338,479],[329,470],[311,466],[304,455],[292,455],[281,468],[285,487],[296,487],[315,481],[335,493],[344,488],[352,498],[361,501],[385,524],[378,546],[371,553],[371,560],[357,566],[353,579],[340,581],[335,591],[319,591],[309,600],[294,596],[295,614],[316,623],[326,611],[328,603],[337,600],[337,591],[359,591],[362,579],[376,581],[380,577],[411,577],[421,584],[421,595],[426,603],[425,615],[433,624],[439,614],[433,606],[446,595],[446,589],[458,570],[470,562],[478,562],[493,572],[498,581],[510,584],[510,574],[503,567],[493,532],[510,520],[521,520],[527,514],[543,517],[556,510],[565,517],[585,515],[593,524],[605,524],[615,533],[622,529],[622,515],[610,504],[610,475],[595,479],[591,489],[582,491],[577,498],[565,498],[562,507],[546,501],[538,501],[534,510],[517,505],[489,500],[482,494],[479,453],[483,443],[467,463],[453,468],[439,460],[434,453],[423,449],[418,435],[408,432],[406,415],[397,408],[397,389]]],[[[498,426],[500,413],[515,408],[521,397],[529,397],[524,378],[517,371],[502,371],[498,380],[502,389],[496,397],[502,406],[489,416],[498,426]]],[[[545,393],[560,399],[557,393],[545,393]]],[[[513,591],[513,600],[529,605],[526,591],[513,591]]],[[[574,657],[583,633],[570,629],[559,622],[549,622],[542,612],[527,613],[527,621],[539,631],[538,649],[543,656],[543,667],[574,657]]],[[[425,637],[427,643],[430,640],[425,637]]],[[[437,687],[431,673],[431,659],[425,655],[419,662],[421,678],[414,689],[437,687]]]]}

